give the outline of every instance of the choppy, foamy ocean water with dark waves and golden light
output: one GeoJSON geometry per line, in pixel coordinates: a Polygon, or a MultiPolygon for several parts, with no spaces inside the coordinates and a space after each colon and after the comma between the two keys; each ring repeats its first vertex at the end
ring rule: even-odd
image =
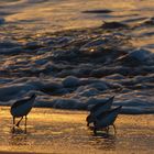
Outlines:
{"type": "Polygon", "coordinates": [[[0,0],[0,105],[87,110],[116,96],[154,113],[153,0],[0,0]]]}

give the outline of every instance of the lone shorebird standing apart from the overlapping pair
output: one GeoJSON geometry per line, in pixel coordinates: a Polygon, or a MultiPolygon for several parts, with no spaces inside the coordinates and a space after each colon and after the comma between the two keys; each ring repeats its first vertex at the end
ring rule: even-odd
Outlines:
{"type": "Polygon", "coordinates": [[[35,101],[35,98],[36,98],[36,95],[32,94],[30,98],[18,100],[11,106],[10,112],[13,117],[13,125],[19,127],[23,117],[25,117],[25,127],[26,127],[26,120],[28,120],[26,116],[31,111],[33,103],[35,101]],[[16,124],[15,124],[15,118],[21,118],[16,124]]]}

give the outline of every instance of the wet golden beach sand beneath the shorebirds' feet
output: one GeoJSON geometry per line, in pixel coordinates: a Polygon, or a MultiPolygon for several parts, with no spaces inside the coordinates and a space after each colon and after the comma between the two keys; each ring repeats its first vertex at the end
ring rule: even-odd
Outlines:
{"type": "Polygon", "coordinates": [[[153,153],[154,116],[119,116],[113,129],[94,135],[86,111],[34,108],[28,128],[12,130],[9,107],[0,107],[0,154],[10,153],[153,153]],[[26,132],[25,132],[26,131],[26,132]]]}

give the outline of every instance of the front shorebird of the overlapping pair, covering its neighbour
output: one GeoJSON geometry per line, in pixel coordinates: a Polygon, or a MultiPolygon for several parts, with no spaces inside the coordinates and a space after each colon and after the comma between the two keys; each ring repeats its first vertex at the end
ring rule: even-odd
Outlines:
{"type": "Polygon", "coordinates": [[[116,131],[114,121],[116,121],[119,112],[121,111],[121,108],[122,108],[122,106],[120,106],[116,109],[111,109],[107,112],[103,112],[102,114],[97,117],[94,122],[94,125],[95,125],[94,133],[97,133],[97,131],[100,129],[109,129],[109,125],[113,125],[114,131],[116,131]]]}

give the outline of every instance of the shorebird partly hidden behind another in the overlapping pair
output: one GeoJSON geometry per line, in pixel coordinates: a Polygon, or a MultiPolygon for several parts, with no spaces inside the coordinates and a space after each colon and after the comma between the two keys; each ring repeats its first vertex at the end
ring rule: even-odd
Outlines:
{"type": "Polygon", "coordinates": [[[113,99],[114,99],[114,96],[109,98],[106,102],[100,102],[100,103],[95,105],[90,109],[90,114],[86,119],[87,127],[89,127],[89,124],[95,121],[96,117],[99,117],[103,112],[106,112],[106,111],[111,109],[111,106],[113,103],[113,99]]]}

